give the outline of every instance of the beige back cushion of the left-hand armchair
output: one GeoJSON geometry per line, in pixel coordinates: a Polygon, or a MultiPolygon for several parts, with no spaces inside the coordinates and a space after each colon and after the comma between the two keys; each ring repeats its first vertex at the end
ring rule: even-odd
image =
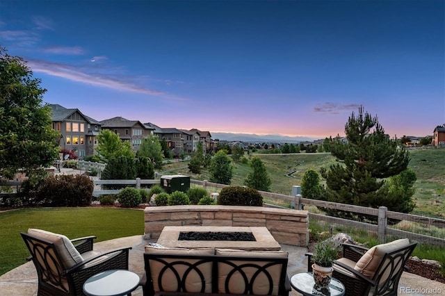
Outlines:
{"type": "Polygon", "coordinates": [[[62,234],[31,228],[28,229],[28,234],[35,238],[53,242],[65,269],[71,268],[83,261],[81,254],[76,250],[71,240],[62,234]]]}

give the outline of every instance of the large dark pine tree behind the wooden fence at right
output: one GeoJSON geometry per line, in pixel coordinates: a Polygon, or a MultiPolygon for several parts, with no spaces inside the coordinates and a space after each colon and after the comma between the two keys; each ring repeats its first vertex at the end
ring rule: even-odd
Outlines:
{"type": "Polygon", "coordinates": [[[408,151],[393,141],[378,123],[378,117],[364,113],[363,107],[349,117],[345,126],[347,142],[339,137],[331,145],[331,154],[339,163],[322,172],[326,179],[327,200],[357,206],[387,206],[390,211],[403,210],[398,204],[385,204],[385,179],[406,170],[408,151]]]}

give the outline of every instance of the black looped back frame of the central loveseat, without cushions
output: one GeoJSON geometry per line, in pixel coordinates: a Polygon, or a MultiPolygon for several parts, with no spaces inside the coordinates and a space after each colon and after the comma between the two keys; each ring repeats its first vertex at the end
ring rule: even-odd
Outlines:
{"type": "Polygon", "coordinates": [[[231,281],[232,276],[236,276],[238,280],[244,281],[245,290],[242,293],[242,295],[245,294],[253,294],[254,293],[254,283],[255,279],[259,276],[259,274],[264,274],[269,280],[269,294],[273,291],[273,281],[270,273],[266,268],[272,266],[272,265],[280,265],[280,283],[279,283],[279,290],[278,295],[289,295],[289,291],[291,290],[289,278],[286,274],[286,268],[287,268],[287,262],[288,258],[284,257],[244,257],[244,256],[220,256],[220,255],[182,255],[182,254],[150,254],[145,253],[144,254],[144,261],[145,261],[145,274],[143,277],[143,280],[141,281],[141,285],[143,286],[143,292],[145,296],[152,296],[157,295],[154,291],[154,286],[151,278],[151,272],[150,272],[150,265],[149,261],[157,261],[159,263],[162,263],[164,266],[163,270],[161,271],[161,274],[159,274],[159,281],[158,286],[160,287],[160,290],[163,290],[162,288],[162,274],[166,270],[170,270],[175,274],[176,281],[177,281],[177,291],[175,292],[159,292],[159,295],[221,295],[221,293],[218,293],[218,290],[220,287],[218,287],[218,263],[225,263],[229,266],[231,266],[233,269],[229,274],[227,275],[227,278],[225,279],[225,286],[223,290],[225,293],[223,295],[235,295],[232,294],[229,290],[229,283],[231,281]],[[170,262],[166,261],[165,259],[175,259],[175,261],[170,262]],[[187,260],[187,261],[186,261],[187,260]],[[190,261],[193,260],[195,263],[191,264],[190,261]],[[236,261],[243,261],[242,264],[236,264],[236,261]],[[266,262],[264,265],[259,265],[258,262],[266,262]],[[204,274],[200,271],[200,265],[204,263],[211,263],[211,277],[212,277],[212,291],[211,293],[204,293],[205,288],[205,281],[204,281],[204,274]],[[184,277],[179,277],[179,273],[175,268],[177,267],[187,267],[186,272],[184,272],[184,277]],[[243,268],[257,268],[257,271],[254,272],[253,277],[250,279],[245,275],[245,272],[243,271],[243,268]],[[201,291],[200,293],[188,293],[186,290],[186,279],[187,275],[190,274],[190,272],[197,272],[197,274],[200,275],[201,279],[201,291]],[[241,277],[239,276],[241,274],[241,277]]]}

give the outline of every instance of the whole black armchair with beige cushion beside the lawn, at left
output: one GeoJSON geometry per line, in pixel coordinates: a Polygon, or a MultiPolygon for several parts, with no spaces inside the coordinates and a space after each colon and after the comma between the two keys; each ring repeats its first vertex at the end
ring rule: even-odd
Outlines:
{"type": "Polygon", "coordinates": [[[40,229],[20,233],[38,273],[38,295],[84,295],[83,283],[106,270],[128,270],[129,249],[100,253],[92,249],[95,236],[69,240],[40,229]]]}

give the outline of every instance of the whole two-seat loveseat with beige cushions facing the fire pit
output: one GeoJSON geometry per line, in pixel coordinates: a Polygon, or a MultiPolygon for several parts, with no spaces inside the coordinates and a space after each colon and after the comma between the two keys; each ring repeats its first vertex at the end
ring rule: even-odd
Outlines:
{"type": "Polygon", "coordinates": [[[289,295],[288,253],[145,247],[148,295],[289,295]]]}

